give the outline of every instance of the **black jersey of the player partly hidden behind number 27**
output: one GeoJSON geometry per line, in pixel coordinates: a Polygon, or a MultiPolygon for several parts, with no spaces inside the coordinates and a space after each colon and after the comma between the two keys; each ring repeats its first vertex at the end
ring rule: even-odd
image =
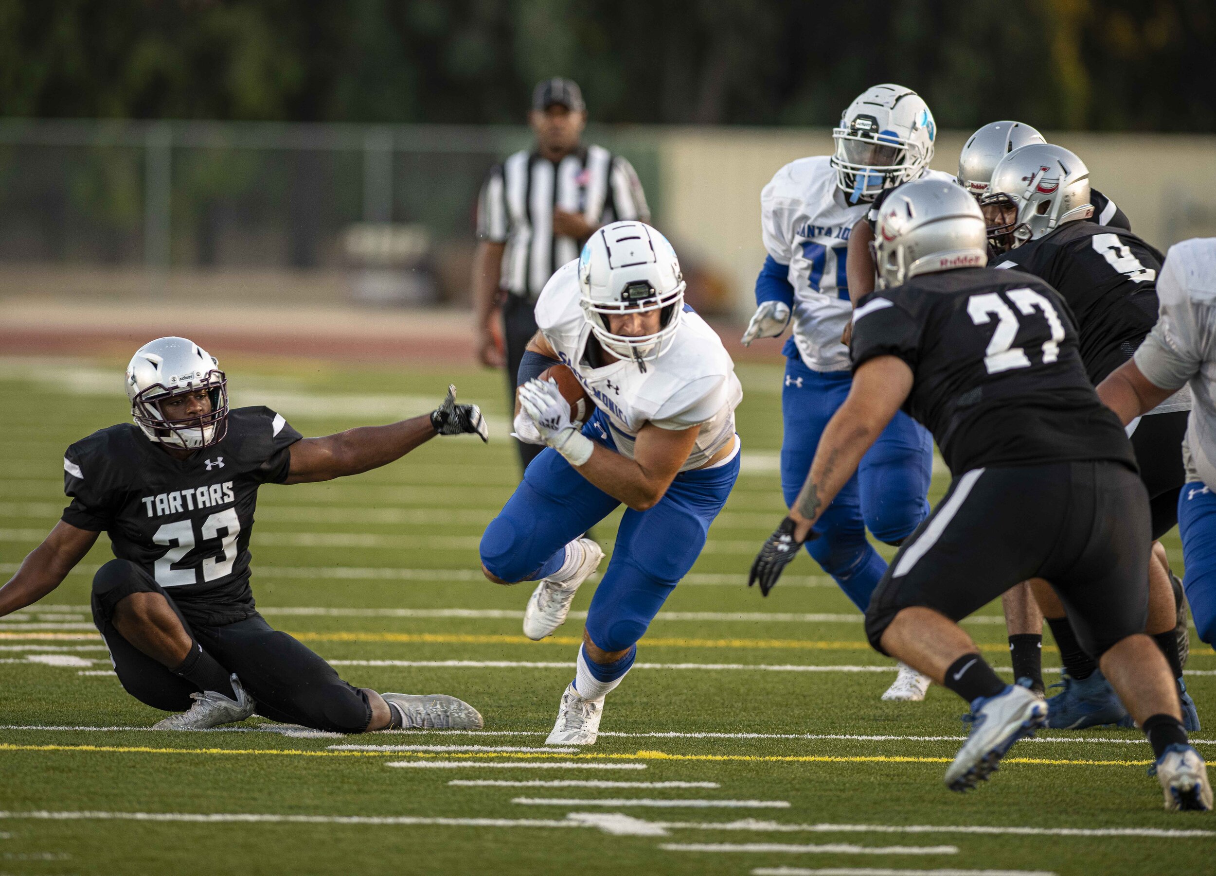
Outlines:
{"type": "Polygon", "coordinates": [[[1132,357],[1156,322],[1165,256],[1130,231],[1065,222],[989,264],[1042,277],[1069,303],[1094,385],[1132,357]]]}

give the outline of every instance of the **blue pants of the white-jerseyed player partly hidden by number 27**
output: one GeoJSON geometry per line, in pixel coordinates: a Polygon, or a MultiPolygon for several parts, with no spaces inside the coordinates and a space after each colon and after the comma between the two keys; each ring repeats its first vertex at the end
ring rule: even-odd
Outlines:
{"type": "MultiPolygon", "coordinates": [[[[781,445],[781,488],[793,504],[806,481],[815,450],[828,420],[844,405],[852,385],[848,371],[818,372],[799,358],[786,361],[781,394],[784,436],[781,445]]],[[[861,611],[878,587],[886,563],[866,541],[868,529],[883,542],[899,543],[929,514],[933,436],[902,411],[815,525],[820,536],[806,550],[861,611]]]]}

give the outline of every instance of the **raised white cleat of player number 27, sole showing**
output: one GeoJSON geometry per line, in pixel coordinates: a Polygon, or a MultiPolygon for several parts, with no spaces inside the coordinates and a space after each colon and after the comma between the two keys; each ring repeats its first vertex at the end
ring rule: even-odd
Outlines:
{"type": "Polygon", "coordinates": [[[976,700],[979,708],[963,720],[972,731],[946,769],[946,787],[967,791],[996,773],[997,764],[1019,739],[1034,736],[1047,722],[1047,703],[1018,684],[996,696],[976,700]]]}

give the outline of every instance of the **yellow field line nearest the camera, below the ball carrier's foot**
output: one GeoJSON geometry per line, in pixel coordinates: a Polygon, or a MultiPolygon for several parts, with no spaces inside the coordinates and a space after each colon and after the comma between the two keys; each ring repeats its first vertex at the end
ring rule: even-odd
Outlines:
{"type": "MultiPolygon", "coordinates": [[[[418,757],[456,761],[478,758],[562,759],[562,761],[703,761],[749,763],[950,763],[948,757],[913,757],[903,755],[837,756],[837,755],[669,755],[664,751],[638,751],[632,755],[546,755],[540,752],[433,752],[433,751],[309,751],[304,748],[154,748],[142,745],[12,745],[0,742],[0,751],[90,751],[137,755],[277,755],[298,757],[418,757]]],[[[1152,761],[1087,761],[1041,757],[1007,757],[1004,763],[1079,767],[1147,767],[1152,761]]]]}

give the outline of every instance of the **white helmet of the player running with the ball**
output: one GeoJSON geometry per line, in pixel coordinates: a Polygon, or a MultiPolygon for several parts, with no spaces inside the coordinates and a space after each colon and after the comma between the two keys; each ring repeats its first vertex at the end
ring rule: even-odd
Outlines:
{"type": "Polygon", "coordinates": [[[638,363],[671,346],[683,312],[685,279],[668,238],[644,222],[612,222],[598,228],[579,256],[579,303],[606,350],[638,363]],[[659,311],[659,330],[631,338],[614,334],[618,313],[659,311]]]}

